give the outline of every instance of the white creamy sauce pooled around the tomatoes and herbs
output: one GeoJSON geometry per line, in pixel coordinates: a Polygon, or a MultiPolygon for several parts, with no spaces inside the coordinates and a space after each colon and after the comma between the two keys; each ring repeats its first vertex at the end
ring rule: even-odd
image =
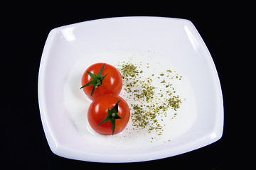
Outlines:
{"type": "MultiPolygon", "coordinates": [[[[160,83],[159,81],[152,81],[151,84],[152,86],[159,86],[160,83]]],[[[127,103],[134,103],[125,93],[124,89],[122,89],[120,96],[127,103]]],[[[157,91],[156,89],[156,93],[161,93],[161,91],[157,91]]],[[[150,51],[110,50],[85,56],[85,58],[78,61],[70,70],[64,87],[64,96],[65,106],[70,118],[75,123],[80,134],[85,137],[85,140],[109,147],[150,147],[171,142],[187,132],[195,122],[197,116],[193,87],[186,74],[178,69],[174,63],[169,61],[168,57],[150,51]],[[182,103],[180,103],[180,108],[175,111],[177,113],[175,117],[174,110],[171,109],[167,111],[168,114],[166,117],[157,117],[161,125],[164,125],[161,135],[158,135],[154,130],[151,133],[147,132],[147,130],[138,130],[132,125],[132,120],[129,120],[127,128],[117,135],[99,135],[90,128],[87,121],[87,109],[91,101],[85,96],[80,86],[82,86],[81,78],[85,69],[97,62],[106,62],[114,66],[117,66],[121,62],[134,64],[141,62],[139,70],[144,71],[144,77],[150,77],[151,74],[159,75],[161,72],[166,72],[166,70],[176,71],[179,76],[182,76],[181,80],[169,80],[175,88],[176,94],[180,96],[182,103]],[[160,119],[163,120],[160,121],[160,119]]],[[[158,99],[155,98],[155,100],[158,99]]]]}

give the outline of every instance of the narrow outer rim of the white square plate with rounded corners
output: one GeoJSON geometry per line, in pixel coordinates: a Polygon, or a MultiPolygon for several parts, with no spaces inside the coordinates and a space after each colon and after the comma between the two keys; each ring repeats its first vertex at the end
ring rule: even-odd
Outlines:
{"type": "MultiPolygon", "coordinates": [[[[133,159],[132,156],[134,156],[134,154],[127,154],[127,155],[118,155],[118,154],[114,154],[114,155],[109,155],[109,154],[92,154],[90,152],[78,152],[75,151],[73,149],[70,149],[68,147],[63,146],[62,144],[58,143],[58,140],[55,139],[55,135],[53,130],[51,130],[50,125],[48,124],[48,115],[46,113],[46,106],[45,103],[43,103],[43,101],[45,101],[46,96],[44,96],[43,94],[43,89],[44,89],[44,84],[43,84],[43,77],[45,76],[45,70],[46,70],[46,65],[47,65],[47,60],[48,60],[48,53],[49,53],[49,48],[51,47],[52,43],[53,43],[53,39],[56,36],[56,33],[58,33],[59,30],[63,30],[65,28],[70,28],[70,27],[79,27],[83,24],[87,24],[90,22],[101,22],[101,21],[111,21],[111,20],[117,20],[117,19],[127,19],[127,18],[154,18],[154,19],[166,19],[166,20],[176,20],[176,21],[184,21],[186,22],[186,24],[188,24],[189,26],[191,26],[191,28],[193,28],[194,33],[196,33],[196,38],[198,38],[198,40],[200,40],[200,45],[203,45],[203,52],[204,55],[207,55],[208,57],[208,62],[210,62],[210,66],[213,67],[211,68],[212,74],[214,75],[215,78],[215,86],[216,86],[216,90],[218,91],[218,121],[217,124],[215,125],[217,127],[214,128],[214,132],[216,137],[213,138],[212,141],[208,141],[206,142],[204,145],[197,145],[193,144],[193,146],[196,147],[191,147],[191,146],[186,146],[186,152],[191,152],[192,150],[201,148],[201,147],[205,147],[206,145],[210,145],[213,142],[216,142],[218,140],[220,140],[220,138],[223,135],[223,121],[224,121],[224,108],[223,108],[223,94],[222,94],[222,90],[221,90],[221,86],[220,86],[220,79],[218,77],[218,72],[217,69],[215,67],[215,64],[213,62],[213,58],[210,55],[210,52],[205,44],[205,42],[203,41],[203,38],[201,38],[201,35],[198,33],[198,30],[196,29],[196,27],[193,25],[193,23],[187,19],[183,19],[183,18],[169,18],[169,17],[159,17],[159,16],[123,16],[123,17],[112,17],[112,18],[100,18],[100,19],[95,19],[95,20],[91,20],[91,21],[82,21],[79,23],[73,23],[73,24],[69,24],[66,26],[60,26],[58,28],[53,28],[52,30],[50,30],[50,33],[48,34],[48,37],[46,39],[46,43],[44,45],[43,48],[43,53],[42,53],[42,57],[41,57],[41,62],[40,62],[40,67],[39,67],[39,72],[38,72],[38,105],[39,105],[39,109],[40,109],[40,115],[41,115],[41,121],[43,124],[43,130],[46,134],[46,139],[48,141],[48,145],[51,149],[51,151],[54,154],[57,154],[60,157],[65,157],[68,159],[76,159],[76,160],[81,160],[81,161],[88,161],[88,162],[144,162],[144,161],[150,161],[150,160],[154,160],[154,159],[163,159],[166,157],[173,157],[176,156],[178,154],[183,154],[186,152],[178,152],[177,149],[176,150],[176,154],[168,154],[169,153],[169,149],[166,149],[165,152],[163,151],[159,151],[161,152],[161,157],[159,156],[155,156],[152,153],[146,153],[146,154],[142,154],[143,156],[146,155],[146,159],[145,157],[142,157],[141,159],[133,159]],[[167,152],[168,151],[168,152],[167,152]],[[76,152],[76,155],[72,155],[70,154],[70,152],[76,152]],[[163,154],[164,153],[164,154],[163,154]],[[85,157],[85,155],[87,155],[86,159],[81,159],[82,157],[85,157]],[[101,158],[100,157],[105,157],[106,155],[109,157],[109,159],[106,161],[106,159],[101,158]],[[119,160],[116,160],[114,158],[119,157],[119,160]]],[[[183,146],[184,147],[184,146],[183,146]]],[[[154,153],[154,152],[153,152],[154,153]]],[[[138,155],[138,154],[136,154],[138,155]]]]}

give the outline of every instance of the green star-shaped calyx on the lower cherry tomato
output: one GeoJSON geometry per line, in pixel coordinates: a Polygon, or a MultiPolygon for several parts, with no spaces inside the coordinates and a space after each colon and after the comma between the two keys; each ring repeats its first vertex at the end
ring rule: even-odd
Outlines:
{"type": "Polygon", "coordinates": [[[110,121],[110,123],[112,125],[112,135],[114,135],[115,120],[116,119],[122,119],[119,115],[117,115],[117,113],[118,113],[118,103],[119,103],[119,101],[117,101],[117,103],[115,104],[115,106],[111,110],[110,110],[110,108],[108,108],[107,117],[104,120],[102,120],[101,123],[97,124],[97,125],[100,125],[102,123],[106,123],[106,122],[110,121]]]}

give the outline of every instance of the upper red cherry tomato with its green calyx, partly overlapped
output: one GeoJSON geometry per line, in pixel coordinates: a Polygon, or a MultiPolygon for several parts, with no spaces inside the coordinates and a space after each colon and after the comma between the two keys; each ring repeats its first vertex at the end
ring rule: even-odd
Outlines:
{"type": "Polygon", "coordinates": [[[122,75],[110,64],[92,64],[82,75],[81,88],[92,101],[104,94],[118,95],[122,90],[122,75]]]}

